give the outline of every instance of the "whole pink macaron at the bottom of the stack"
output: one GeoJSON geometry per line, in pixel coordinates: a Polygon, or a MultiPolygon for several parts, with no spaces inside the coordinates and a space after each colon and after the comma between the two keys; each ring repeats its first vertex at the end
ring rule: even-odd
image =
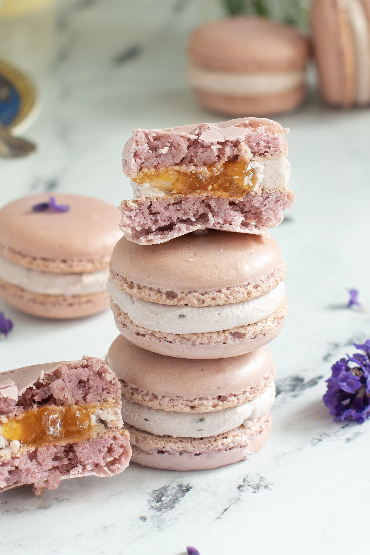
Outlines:
{"type": "Polygon", "coordinates": [[[132,462],[217,468],[252,455],[270,434],[275,366],[268,346],[199,361],[154,354],[119,336],[108,365],[121,383],[132,462]]]}

